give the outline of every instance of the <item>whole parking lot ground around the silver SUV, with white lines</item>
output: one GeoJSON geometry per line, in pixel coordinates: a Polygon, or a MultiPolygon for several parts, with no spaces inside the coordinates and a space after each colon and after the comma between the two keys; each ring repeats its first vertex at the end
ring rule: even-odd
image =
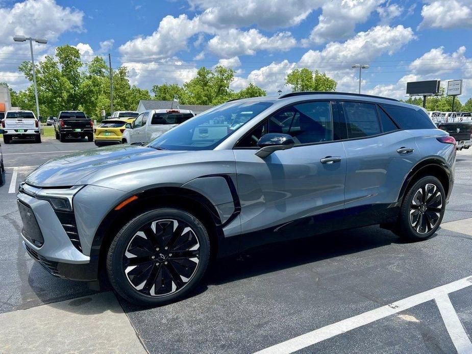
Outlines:
{"type": "Polygon", "coordinates": [[[270,245],[213,264],[191,297],[146,309],[57,279],[21,247],[18,184],[93,147],[2,145],[0,352],[472,352],[472,150],[458,153],[443,224],[427,241],[370,226],[270,245]]]}

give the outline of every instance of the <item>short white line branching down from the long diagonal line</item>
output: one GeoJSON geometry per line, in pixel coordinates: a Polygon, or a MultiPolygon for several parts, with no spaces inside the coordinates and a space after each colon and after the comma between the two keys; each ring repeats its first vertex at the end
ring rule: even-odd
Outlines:
{"type": "Polygon", "coordinates": [[[457,352],[459,354],[472,353],[472,343],[470,343],[469,337],[467,337],[467,333],[465,333],[464,327],[454,310],[454,306],[452,306],[449,295],[442,294],[436,297],[435,300],[446,330],[448,330],[457,352]]]}

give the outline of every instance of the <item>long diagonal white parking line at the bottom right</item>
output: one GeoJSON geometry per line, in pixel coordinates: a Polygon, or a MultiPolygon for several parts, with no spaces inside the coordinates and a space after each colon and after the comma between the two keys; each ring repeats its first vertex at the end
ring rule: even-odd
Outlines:
{"type": "MultiPolygon", "coordinates": [[[[325,327],[319,328],[318,330],[306,333],[304,335],[289,339],[285,342],[273,345],[271,347],[262,349],[258,351],[256,354],[268,354],[268,353],[292,353],[294,351],[306,348],[310,345],[319,343],[326,339],[332,338],[339,334],[345,333],[347,331],[354,330],[354,328],[358,328],[365,324],[377,321],[384,317],[393,315],[395,313],[399,313],[401,311],[407,310],[413,306],[423,304],[423,302],[430,301],[436,298],[441,299],[441,296],[444,296],[454,291],[467,288],[472,285],[472,276],[465,277],[461,280],[442,285],[440,287],[427,290],[425,292],[407,297],[403,300],[399,300],[393,302],[392,304],[385,305],[375,310],[371,310],[365,312],[363,314],[347,318],[345,320],[327,325],[325,327]]],[[[454,309],[452,309],[454,311],[454,309]]],[[[441,313],[442,315],[442,313],[441,313]]],[[[456,315],[457,316],[457,315],[456,315]]],[[[446,320],[444,320],[445,322],[446,320]]],[[[453,333],[457,334],[456,325],[452,326],[453,333]]],[[[449,330],[448,330],[449,331],[449,330]]],[[[467,336],[467,335],[466,335],[467,336]]],[[[463,337],[461,337],[463,339],[463,337]]],[[[468,338],[467,338],[468,340],[468,338]]],[[[461,341],[461,345],[463,342],[461,341]]],[[[464,344],[465,345],[465,344],[464,344]]],[[[470,345],[470,341],[468,343],[470,345]]],[[[468,348],[468,347],[466,347],[468,348]]],[[[470,351],[463,351],[462,353],[469,353],[470,351]]]]}

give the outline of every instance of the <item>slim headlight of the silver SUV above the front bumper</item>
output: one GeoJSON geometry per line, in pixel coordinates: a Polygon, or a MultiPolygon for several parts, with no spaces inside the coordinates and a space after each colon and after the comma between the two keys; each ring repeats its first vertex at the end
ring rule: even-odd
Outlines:
{"type": "Polygon", "coordinates": [[[19,191],[29,194],[35,198],[47,200],[54,210],[72,211],[72,198],[84,186],[74,186],[70,188],[36,188],[25,184],[20,184],[19,191]]]}

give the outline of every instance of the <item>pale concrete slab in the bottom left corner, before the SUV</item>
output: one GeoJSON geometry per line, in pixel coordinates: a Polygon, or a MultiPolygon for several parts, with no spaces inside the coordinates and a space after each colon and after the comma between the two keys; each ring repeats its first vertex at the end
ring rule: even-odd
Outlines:
{"type": "Polygon", "coordinates": [[[0,353],[147,353],[112,292],[0,314],[0,353]]]}

